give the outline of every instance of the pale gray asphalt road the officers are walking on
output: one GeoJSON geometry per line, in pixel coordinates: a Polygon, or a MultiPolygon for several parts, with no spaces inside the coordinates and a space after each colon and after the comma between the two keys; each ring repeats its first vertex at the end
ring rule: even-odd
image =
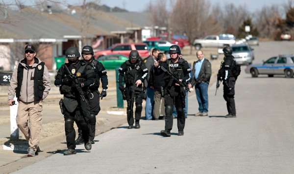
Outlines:
{"type": "MultiPolygon", "coordinates": [[[[261,42],[254,63],[291,53],[293,42],[261,42]]],[[[236,83],[236,118],[227,114],[222,85],[215,96],[209,88],[209,116],[196,117],[195,95],[189,97],[185,135],[162,137],[164,121],[141,121],[141,129],[126,124],[105,132],[87,152],[63,151],[15,173],[198,173],[292,174],[294,172],[294,79],[283,76],[251,78],[245,66],[236,83]]]]}

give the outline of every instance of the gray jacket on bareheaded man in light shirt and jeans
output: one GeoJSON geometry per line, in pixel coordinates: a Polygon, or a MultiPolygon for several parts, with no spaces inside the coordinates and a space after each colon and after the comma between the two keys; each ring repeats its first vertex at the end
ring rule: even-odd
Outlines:
{"type": "Polygon", "coordinates": [[[198,61],[193,62],[193,66],[192,66],[192,72],[193,72],[193,78],[192,78],[192,83],[191,83],[192,87],[195,86],[196,82],[198,82],[198,83],[207,82],[209,84],[210,77],[211,77],[211,64],[210,64],[209,60],[204,58],[203,63],[201,65],[201,69],[200,69],[198,78],[197,78],[197,80],[195,80],[195,64],[198,61]]]}

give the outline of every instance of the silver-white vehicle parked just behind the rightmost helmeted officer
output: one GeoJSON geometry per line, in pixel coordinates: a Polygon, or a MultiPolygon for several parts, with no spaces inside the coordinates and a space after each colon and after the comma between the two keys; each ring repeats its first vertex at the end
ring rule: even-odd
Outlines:
{"type": "Polygon", "coordinates": [[[254,49],[251,48],[247,43],[233,44],[232,51],[232,55],[235,57],[236,64],[252,64],[252,61],[254,60],[254,49]]]}

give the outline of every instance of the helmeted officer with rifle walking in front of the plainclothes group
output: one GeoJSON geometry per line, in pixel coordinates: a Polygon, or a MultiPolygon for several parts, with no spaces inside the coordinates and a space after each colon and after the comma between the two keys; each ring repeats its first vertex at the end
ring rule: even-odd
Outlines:
{"type": "MultiPolygon", "coordinates": [[[[191,68],[188,65],[188,62],[184,59],[181,59],[179,55],[181,54],[180,47],[178,45],[172,45],[170,47],[170,59],[166,62],[163,62],[162,65],[159,65],[158,62],[154,62],[154,68],[158,70],[163,70],[161,66],[164,67],[168,72],[170,72],[176,79],[180,82],[188,85],[191,81],[191,68]]],[[[175,106],[177,111],[177,128],[178,135],[184,135],[185,127],[185,96],[186,89],[180,86],[175,80],[171,77],[170,74],[165,72],[165,130],[160,131],[162,136],[171,136],[172,130],[172,110],[175,106]]]]}

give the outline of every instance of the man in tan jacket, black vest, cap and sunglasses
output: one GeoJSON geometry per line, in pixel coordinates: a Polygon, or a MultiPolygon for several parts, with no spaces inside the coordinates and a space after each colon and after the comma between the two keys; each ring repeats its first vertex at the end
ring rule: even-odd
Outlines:
{"type": "Polygon", "coordinates": [[[8,89],[8,105],[13,105],[15,95],[19,102],[16,123],[28,140],[27,156],[38,154],[42,105],[51,88],[48,69],[36,54],[33,45],[25,46],[25,58],[14,69],[8,89]]]}

